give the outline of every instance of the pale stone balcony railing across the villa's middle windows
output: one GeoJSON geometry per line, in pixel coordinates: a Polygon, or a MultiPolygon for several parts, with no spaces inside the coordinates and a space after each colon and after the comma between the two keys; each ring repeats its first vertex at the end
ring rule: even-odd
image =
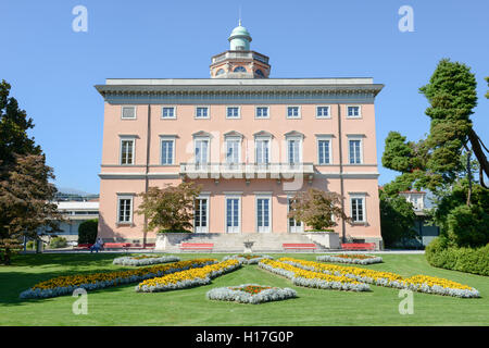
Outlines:
{"type": "Polygon", "coordinates": [[[180,175],[189,178],[276,178],[312,176],[313,163],[180,163],[180,175]]]}

